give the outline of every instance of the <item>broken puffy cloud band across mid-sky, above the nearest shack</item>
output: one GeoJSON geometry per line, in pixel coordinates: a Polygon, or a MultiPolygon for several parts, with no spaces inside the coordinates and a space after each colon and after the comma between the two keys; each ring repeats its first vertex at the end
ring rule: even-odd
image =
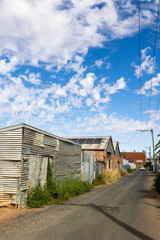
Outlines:
{"type": "Polygon", "coordinates": [[[66,85],[50,83],[42,85],[39,73],[29,73],[4,78],[0,85],[0,119],[22,121],[52,121],[55,116],[71,112],[73,109],[95,111],[100,104],[110,101],[110,95],[125,89],[124,78],[113,85],[98,82],[94,73],[84,78],[72,77],[66,85]],[[31,83],[28,85],[28,82],[31,83]],[[46,114],[46,119],[41,119],[46,114]]]}

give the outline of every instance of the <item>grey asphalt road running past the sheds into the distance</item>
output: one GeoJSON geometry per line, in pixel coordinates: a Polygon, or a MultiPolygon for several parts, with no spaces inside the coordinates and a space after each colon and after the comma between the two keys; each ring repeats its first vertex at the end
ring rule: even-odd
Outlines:
{"type": "Polygon", "coordinates": [[[134,172],[65,203],[0,227],[0,240],[160,240],[151,173],[134,172]]]}

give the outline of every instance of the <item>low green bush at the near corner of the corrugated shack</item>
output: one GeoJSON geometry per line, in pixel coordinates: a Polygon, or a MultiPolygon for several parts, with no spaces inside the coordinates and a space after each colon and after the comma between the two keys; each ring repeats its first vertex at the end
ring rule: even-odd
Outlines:
{"type": "Polygon", "coordinates": [[[28,196],[27,205],[30,208],[39,208],[53,201],[52,196],[48,192],[47,188],[34,187],[30,195],[28,196]]]}

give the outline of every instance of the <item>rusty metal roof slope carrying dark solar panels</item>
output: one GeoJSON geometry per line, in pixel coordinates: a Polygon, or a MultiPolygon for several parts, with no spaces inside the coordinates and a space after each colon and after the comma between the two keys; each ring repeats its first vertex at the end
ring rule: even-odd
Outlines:
{"type": "Polygon", "coordinates": [[[111,136],[82,136],[67,138],[70,141],[81,144],[83,150],[107,149],[111,136]]]}

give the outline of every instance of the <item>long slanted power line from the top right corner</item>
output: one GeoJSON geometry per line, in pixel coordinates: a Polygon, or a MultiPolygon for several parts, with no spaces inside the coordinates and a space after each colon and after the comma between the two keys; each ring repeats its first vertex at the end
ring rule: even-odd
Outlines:
{"type": "MultiPolygon", "coordinates": [[[[154,50],[153,50],[152,78],[151,78],[150,95],[149,95],[149,104],[148,104],[147,125],[148,125],[149,111],[150,111],[150,105],[151,105],[152,80],[153,80],[154,66],[155,66],[155,53],[156,53],[156,44],[157,44],[157,32],[158,32],[159,9],[160,9],[160,0],[159,0],[159,3],[158,3],[158,10],[157,10],[157,21],[156,21],[156,32],[155,32],[154,50]]],[[[159,103],[158,103],[157,106],[159,107],[159,103]]],[[[157,112],[158,112],[158,110],[157,110],[157,112]]],[[[157,112],[156,112],[156,117],[157,117],[157,112]]]]}

